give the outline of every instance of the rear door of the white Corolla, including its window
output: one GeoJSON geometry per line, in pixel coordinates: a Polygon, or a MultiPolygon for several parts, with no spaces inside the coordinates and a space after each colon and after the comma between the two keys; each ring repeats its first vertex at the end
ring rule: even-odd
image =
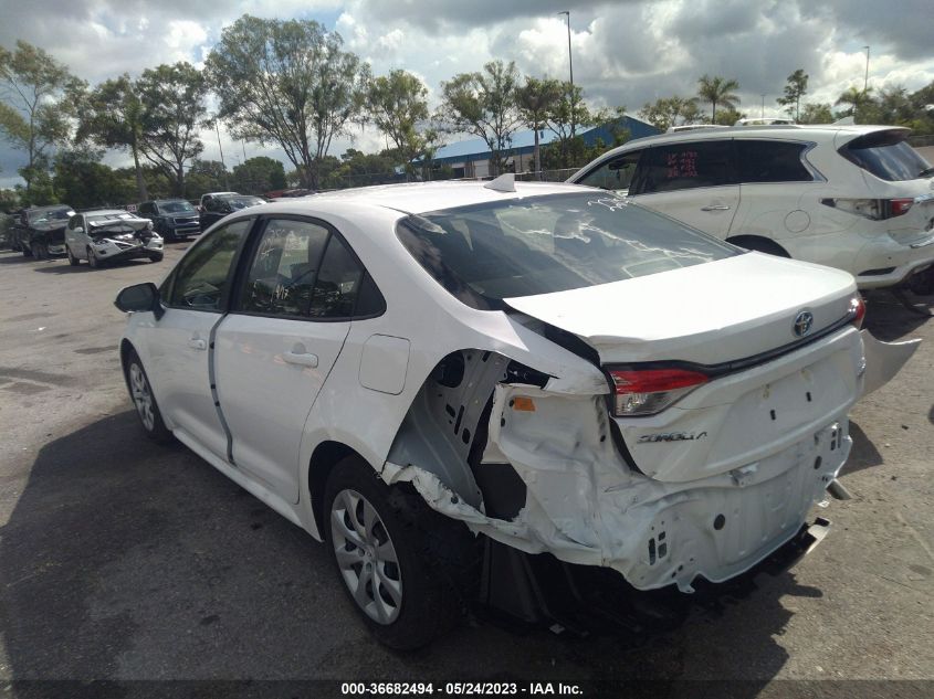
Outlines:
{"type": "Polygon", "coordinates": [[[344,347],[365,272],[342,236],[312,219],[264,222],[218,328],[218,396],[233,462],[291,502],[312,405],[344,347]]]}

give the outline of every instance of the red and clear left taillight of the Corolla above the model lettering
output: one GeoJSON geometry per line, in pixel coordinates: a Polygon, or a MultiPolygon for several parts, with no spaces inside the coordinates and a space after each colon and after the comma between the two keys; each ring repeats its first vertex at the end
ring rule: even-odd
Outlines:
{"type": "Polygon", "coordinates": [[[609,374],[617,417],[653,415],[710,380],[688,369],[610,369],[609,374]]]}

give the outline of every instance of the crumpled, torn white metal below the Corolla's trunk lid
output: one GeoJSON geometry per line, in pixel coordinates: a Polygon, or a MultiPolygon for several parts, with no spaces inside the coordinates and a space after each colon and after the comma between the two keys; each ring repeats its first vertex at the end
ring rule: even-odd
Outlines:
{"type": "Polygon", "coordinates": [[[791,539],[851,444],[846,422],[836,422],[736,473],[660,483],[626,466],[598,396],[496,388],[487,454],[507,458],[527,487],[512,521],[486,516],[417,466],[387,462],[382,478],[411,483],[433,509],[522,551],[613,568],[642,590],[674,583],[691,592],[696,575],[726,580],[791,539]],[[535,411],[512,410],[517,398],[535,411]]]}

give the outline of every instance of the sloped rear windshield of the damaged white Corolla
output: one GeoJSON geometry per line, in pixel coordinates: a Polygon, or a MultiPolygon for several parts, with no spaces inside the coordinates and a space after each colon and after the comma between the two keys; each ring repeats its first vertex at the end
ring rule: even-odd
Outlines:
{"type": "Polygon", "coordinates": [[[553,194],[402,219],[399,240],[448,292],[502,299],[619,282],[739,250],[610,192],[553,194]]]}

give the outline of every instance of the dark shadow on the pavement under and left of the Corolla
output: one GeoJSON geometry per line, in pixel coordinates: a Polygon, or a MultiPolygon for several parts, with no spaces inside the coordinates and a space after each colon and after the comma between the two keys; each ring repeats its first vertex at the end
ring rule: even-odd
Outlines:
{"type": "Polygon", "coordinates": [[[41,447],[0,561],[14,680],[738,679],[732,696],[753,697],[788,660],[788,601],[822,597],[759,570],[701,590],[674,631],[473,622],[396,654],[357,617],[323,546],[187,448],[146,439],[132,411],[41,447]]]}

